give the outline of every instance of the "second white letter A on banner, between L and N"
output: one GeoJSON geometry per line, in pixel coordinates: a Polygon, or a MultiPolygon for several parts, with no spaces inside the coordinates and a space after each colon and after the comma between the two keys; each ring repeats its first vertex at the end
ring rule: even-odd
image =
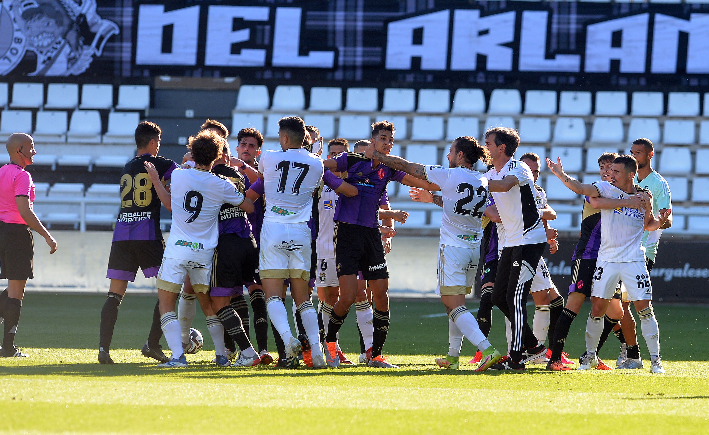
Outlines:
{"type": "Polygon", "coordinates": [[[645,72],[648,13],[589,24],[586,27],[586,72],[610,72],[610,60],[620,60],[620,72],[645,72]],[[620,47],[611,47],[613,32],[622,32],[620,47]]]}

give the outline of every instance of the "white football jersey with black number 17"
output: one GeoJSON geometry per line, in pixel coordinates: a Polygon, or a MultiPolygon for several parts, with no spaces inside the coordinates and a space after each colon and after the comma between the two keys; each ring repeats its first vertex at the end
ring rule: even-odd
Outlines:
{"type": "Polygon", "coordinates": [[[313,212],[313,191],[323,179],[323,161],[304,148],[269,149],[261,154],[264,178],[264,222],[308,222],[313,212]]]}

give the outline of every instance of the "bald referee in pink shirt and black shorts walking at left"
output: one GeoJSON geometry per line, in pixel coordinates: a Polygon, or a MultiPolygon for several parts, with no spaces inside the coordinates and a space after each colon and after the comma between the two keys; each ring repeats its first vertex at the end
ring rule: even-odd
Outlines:
{"type": "Polygon", "coordinates": [[[50,254],[57,251],[57,241],[32,210],[35,183],[25,167],[33,163],[37,152],[32,136],[13,133],[7,140],[10,163],[0,167],[0,278],[8,280],[0,293],[0,322],[5,320],[5,335],[0,357],[27,356],[14,345],[27,280],[34,278],[32,257],[34,239],[30,228],[45,238],[50,254]]]}

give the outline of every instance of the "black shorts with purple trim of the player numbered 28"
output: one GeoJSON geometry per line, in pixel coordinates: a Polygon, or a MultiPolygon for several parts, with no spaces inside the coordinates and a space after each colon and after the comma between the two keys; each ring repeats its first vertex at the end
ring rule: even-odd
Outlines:
{"type": "Polygon", "coordinates": [[[118,240],[111,243],[106,278],[135,281],[138,267],[145,278],[157,276],[165,252],[164,240],[118,240]]]}

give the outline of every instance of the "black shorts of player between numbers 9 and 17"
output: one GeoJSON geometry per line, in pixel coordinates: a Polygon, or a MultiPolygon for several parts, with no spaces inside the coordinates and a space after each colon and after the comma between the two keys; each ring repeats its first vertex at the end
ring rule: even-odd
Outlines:
{"type": "MultiPolygon", "coordinates": [[[[235,234],[219,236],[212,262],[210,287],[216,296],[226,296],[235,287],[250,285],[253,271],[259,266],[259,250],[253,237],[243,238],[235,234]]],[[[230,296],[230,295],[228,295],[230,296]]]]}

